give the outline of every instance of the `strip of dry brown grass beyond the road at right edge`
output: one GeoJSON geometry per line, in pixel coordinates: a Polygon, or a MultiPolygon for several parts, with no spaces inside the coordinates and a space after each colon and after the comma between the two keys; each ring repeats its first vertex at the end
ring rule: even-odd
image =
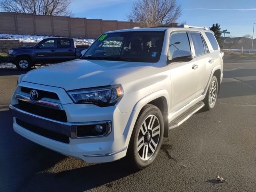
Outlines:
{"type": "Polygon", "coordinates": [[[224,62],[256,62],[256,53],[241,53],[227,50],[222,50],[222,52],[224,52],[224,62]]]}

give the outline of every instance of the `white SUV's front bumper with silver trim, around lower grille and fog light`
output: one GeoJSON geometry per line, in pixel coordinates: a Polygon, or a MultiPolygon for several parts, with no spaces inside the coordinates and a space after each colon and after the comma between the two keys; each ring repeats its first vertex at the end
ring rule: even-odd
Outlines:
{"type": "MultiPolygon", "coordinates": [[[[111,132],[102,137],[77,138],[74,128],[77,125],[90,124],[92,122],[58,122],[22,111],[15,108],[12,104],[10,105],[10,112],[13,116],[13,128],[15,132],[61,154],[92,163],[112,162],[126,155],[126,136],[120,134],[122,128],[116,127],[116,129],[114,129],[112,126],[111,132]],[[55,138],[49,138],[40,133],[38,134],[28,130],[26,127],[18,124],[20,120],[32,124],[35,127],[43,128],[46,131],[65,135],[68,137],[69,142],[58,141],[55,138]]],[[[91,114],[93,115],[93,113],[91,114]]],[[[129,118],[129,114],[122,114],[119,110],[115,110],[113,114],[122,116],[122,120],[126,119],[125,116],[127,116],[127,120],[129,118]]],[[[98,118],[100,119],[100,116],[98,118]]],[[[113,118],[111,122],[112,125],[118,125],[118,122],[115,122],[113,118]]]]}

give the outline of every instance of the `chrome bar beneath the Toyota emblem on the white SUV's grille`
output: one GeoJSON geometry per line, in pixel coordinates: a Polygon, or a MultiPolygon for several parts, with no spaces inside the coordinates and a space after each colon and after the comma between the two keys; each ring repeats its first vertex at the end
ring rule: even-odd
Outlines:
{"type": "Polygon", "coordinates": [[[48,108],[63,110],[62,105],[59,103],[49,102],[49,101],[44,101],[44,100],[38,100],[36,102],[33,102],[28,96],[24,96],[19,93],[16,94],[15,98],[18,100],[24,101],[24,102],[35,104],[35,105],[40,105],[40,106],[44,106],[44,107],[48,107],[48,108]]]}

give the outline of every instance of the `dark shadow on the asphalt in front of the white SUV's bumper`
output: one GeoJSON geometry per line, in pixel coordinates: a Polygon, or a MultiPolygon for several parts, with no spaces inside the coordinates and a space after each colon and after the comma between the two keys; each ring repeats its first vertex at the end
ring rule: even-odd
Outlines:
{"type": "Polygon", "coordinates": [[[85,191],[136,172],[124,160],[88,164],[41,147],[14,132],[8,110],[0,122],[3,191],[85,191]]]}

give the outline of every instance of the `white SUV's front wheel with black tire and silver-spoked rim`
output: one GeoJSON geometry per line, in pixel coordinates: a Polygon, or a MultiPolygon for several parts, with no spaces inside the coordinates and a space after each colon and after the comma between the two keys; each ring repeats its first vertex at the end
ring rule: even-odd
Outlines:
{"type": "Polygon", "coordinates": [[[155,160],[164,134],[164,120],[161,111],[152,104],[142,108],[138,117],[126,158],[134,168],[144,169],[155,160]],[[146,125],[146,126],[145,126],[146,125]]]}

